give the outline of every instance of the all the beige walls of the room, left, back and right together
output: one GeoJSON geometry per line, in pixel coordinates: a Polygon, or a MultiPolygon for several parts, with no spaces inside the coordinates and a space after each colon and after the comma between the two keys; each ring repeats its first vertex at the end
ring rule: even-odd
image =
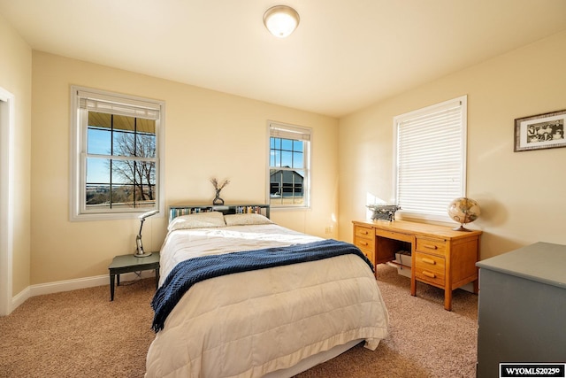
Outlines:
{"type": "MultiPolygon", "coordinates": [[[[14,294],[30,284],[106,274],[113,256],[134,250],[136,220],[68,220],[73,84],[166,102],[167,205],[210,202],[211,177],[232,181],[222,192],[226,202],[264,202],[266,120],[313,127],[312,209],[273,212],[272,218],[325,237],[339,235],[336,228],[325,234],[339,226],[344,240],[351,240],[351,220],[365,218],[368,195],[392,197],[393,117],[468,95],[468,196],[482,206],[471,225],[485,231],[482,258],[537,241],[566,243],[566,149],[513,152],[514,119],[566,109],[566,33],[374,104],[338,126],[310,112],[40,51],[32,60],[1,18],[0,31],[0,55],[8,57],[0,61],[0,86],[18,101],[14,294]]],[[[147,220],[146,248],[158,250],[164,233],[164,218],[147,220]]]]}

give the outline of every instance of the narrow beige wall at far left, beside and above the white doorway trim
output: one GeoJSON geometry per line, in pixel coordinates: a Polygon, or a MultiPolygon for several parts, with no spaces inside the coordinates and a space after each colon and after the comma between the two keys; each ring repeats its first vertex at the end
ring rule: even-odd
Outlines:
{"type": "MultiPolygon", "coordinates": [[[[32,50],[0,15],[0,87],[14,96],[12,292],[30,283],[30,139],[32,50]]],[[[5,189],[5,182],[0,184],[5,189]]]]}

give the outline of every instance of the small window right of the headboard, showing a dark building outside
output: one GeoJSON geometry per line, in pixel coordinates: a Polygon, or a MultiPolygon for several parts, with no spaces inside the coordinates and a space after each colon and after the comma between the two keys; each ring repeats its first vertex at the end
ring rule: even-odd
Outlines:
{"type": "Polygon", "coordinates": [[[269,123],[269,197],[272,207],[309,207],[309,128],[269,123]]]}

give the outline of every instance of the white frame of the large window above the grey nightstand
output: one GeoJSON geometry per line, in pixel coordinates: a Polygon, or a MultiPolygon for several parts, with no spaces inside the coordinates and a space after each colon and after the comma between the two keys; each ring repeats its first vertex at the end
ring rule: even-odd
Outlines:
{"type": "MultiPolygon", "coordinates": [[[[150,111],[149,111],[150,112],[150,111]]],[[[118,112],[111,112],[119,114],[118,112]]],[[[124,115],[124,114],[121,114],[124,115]]],[[[136,117],[135,115],[129,115],[136,117]]],[[[140,117],[138,117],[140,118],[140,117]]],[[[157,217],[164,214],[164,124],[165,103],[155,99],[139,96],[129,96],[115,92],[71,86],[71,174],[70,174],[70,220],[121,220],[137,218],[143,212],[158,210],[157,217]],[[86,206],[87,183],[87,135],[88,112],[81,111],[81,98],[94,98],[101,102],[124,104],[140,108],[145,112],[155,109],[158,112],[156,120],[156,202],[155,207],[105,209],[104,211],[88,210],[86,206]]],[[[120,157],[117,157],[120,159],[120,157]]],[[[134,158],[134,157],[133,157],[134,158]]],[[[137,158],[134,158],[136,160],[137,158]]]]}

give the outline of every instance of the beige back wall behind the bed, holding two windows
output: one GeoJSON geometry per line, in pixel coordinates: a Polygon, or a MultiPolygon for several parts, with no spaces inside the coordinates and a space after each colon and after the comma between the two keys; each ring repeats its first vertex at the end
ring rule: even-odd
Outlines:
{"type": "MultiPolygon", "coordinates": [[[[273,211],[272,219],[314,235],[333,226],[338,120],[40,51],[33,83],[32,284],[107,274],[111,258],[134,251],[139,228],[138,220],[69,221],[71,85],[164,100],[166,205],[210,204],[212,177],[230,179],[226,203],[264,203],[267,120],[312,127],[312,208],[273,211]]],[[[146,220],[146,250],[159,250],[165,228],[164,218],[146,220]]]]}

